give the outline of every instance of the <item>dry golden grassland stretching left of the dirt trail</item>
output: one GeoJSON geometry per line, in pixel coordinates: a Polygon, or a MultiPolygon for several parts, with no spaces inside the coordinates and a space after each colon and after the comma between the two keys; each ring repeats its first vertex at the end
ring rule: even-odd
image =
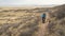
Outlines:
{"type": "Polygon", "coordinates": [[[28,10],[0,11],[0,36],[32,36],[38,31],[40,13],[28,10]]]}

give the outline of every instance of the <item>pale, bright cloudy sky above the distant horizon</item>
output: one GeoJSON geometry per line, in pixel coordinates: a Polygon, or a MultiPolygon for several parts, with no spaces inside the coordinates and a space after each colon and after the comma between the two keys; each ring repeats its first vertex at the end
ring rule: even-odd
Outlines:
{"type": "Polygon", "coordinates": [[[0,6],[5,5],[51,5],[65,4],[65,0],[0,0],[0,6]]]}

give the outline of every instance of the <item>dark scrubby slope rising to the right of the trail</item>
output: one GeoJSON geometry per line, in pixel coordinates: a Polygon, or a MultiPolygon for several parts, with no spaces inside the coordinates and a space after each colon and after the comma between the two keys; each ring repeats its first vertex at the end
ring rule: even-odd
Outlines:
{"type": "Polygon", "coordinates": [[[48,25],[47,36],[65,36],[65,4],[53,8],[56,11],[50,13],[51,22],[48,25]]]}

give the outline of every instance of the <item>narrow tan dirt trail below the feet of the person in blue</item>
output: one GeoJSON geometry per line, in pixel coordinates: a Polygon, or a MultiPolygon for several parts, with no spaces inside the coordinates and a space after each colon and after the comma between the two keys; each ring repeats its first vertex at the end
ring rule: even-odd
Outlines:
{"type": "Polygon", "coordinates": [[[41,21],[39,22],[38,36],[44,36],[44,34],[47,33],[47,26],[48,26],[48,22],[46,23],[42,23],[41,21]]]}

